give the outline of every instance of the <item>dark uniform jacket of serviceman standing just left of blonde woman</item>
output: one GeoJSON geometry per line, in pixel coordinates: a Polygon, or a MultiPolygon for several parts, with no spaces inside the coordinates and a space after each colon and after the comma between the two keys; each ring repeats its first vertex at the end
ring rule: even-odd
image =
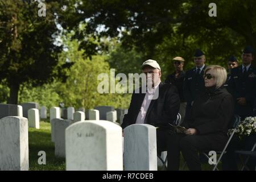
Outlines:
{"type": "Polygon", "coordinates": [[[204,66],[199,78],[197,78],[196,75],[196,68],[190,69],[185,73],[183,92],[185,101],[188,102],[188,105],[195,100],[198,94],[204,92],[205,86],[203,75],[206,67],[207,65],[204,66]]]}

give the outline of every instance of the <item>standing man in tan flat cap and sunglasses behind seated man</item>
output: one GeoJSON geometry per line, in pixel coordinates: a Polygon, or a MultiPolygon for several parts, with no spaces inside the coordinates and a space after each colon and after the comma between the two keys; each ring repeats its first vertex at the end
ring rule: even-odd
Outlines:
{"type": "Polygon", "coordinates": [[[185,102],[184,98],[184,93],[183,93],[183,83],[184,83],[184,78],[185,78],[185,72],[183,71],[183,66],[184,66],[185,60],[183,57],[174,57],[173,59],[173,64],[175,71],[174,73],[170,74],[167,76],[166,82],[167,84],[173,84],[177,87],[179,96],[180,96],[180,110],[179,113],[181,115],[181,121],[183,121],[185,117],[185,109],[187,102],[185,102]]]}

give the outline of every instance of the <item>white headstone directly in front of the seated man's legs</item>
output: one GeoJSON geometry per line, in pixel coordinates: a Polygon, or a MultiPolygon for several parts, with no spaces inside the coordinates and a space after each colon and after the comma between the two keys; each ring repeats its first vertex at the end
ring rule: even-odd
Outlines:
{"type": "Polygon", "coordinates": [[[156,128],[147,124],[134,124],[127,126],[123,135],[125,170],[157,171],[156,128]]]}

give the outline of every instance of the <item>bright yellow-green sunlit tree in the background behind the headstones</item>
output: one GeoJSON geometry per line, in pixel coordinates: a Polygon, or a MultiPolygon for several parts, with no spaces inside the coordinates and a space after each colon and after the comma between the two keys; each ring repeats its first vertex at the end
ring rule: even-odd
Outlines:
{"type": "MultiPolygon", "coordinates": [[[[108,55],[92,56],[92,59],[86,58],[85,50],[79,50],[79,42],[70,40],[72,34],[64,39],[67,51],[60,55],[60,62],[69,60],[74,62],[70,72],[68,72],[67,82],[56,85],[56,92],[64,102],[65,106],[85,107],[93,109],[98,105],[109,105],[114,107],[127,108],[130,104],[130,94],[118,93],[99,93],[97,80],[98,75],[106,73],[110,75],[110,67],[107,59],[108,55]]],[[[109,80],[110,81],[110,80],[109,80]]]]}

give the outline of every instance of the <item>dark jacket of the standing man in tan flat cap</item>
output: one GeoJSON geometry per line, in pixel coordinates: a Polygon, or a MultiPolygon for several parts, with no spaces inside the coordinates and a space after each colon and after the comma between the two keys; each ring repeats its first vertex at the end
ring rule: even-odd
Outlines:
{"type": "Polygon", "coordinates": [[[175,77],[175,72],[171,75],[168,75],[166,80],[164,81],[167,84],[174,84],[177,87],[179,96],[180,96],[180,102],[185,102],[184,93],[183,93],[183,83],[185,78],[185,72],[182,71],[179,76],[175,77]]]}

